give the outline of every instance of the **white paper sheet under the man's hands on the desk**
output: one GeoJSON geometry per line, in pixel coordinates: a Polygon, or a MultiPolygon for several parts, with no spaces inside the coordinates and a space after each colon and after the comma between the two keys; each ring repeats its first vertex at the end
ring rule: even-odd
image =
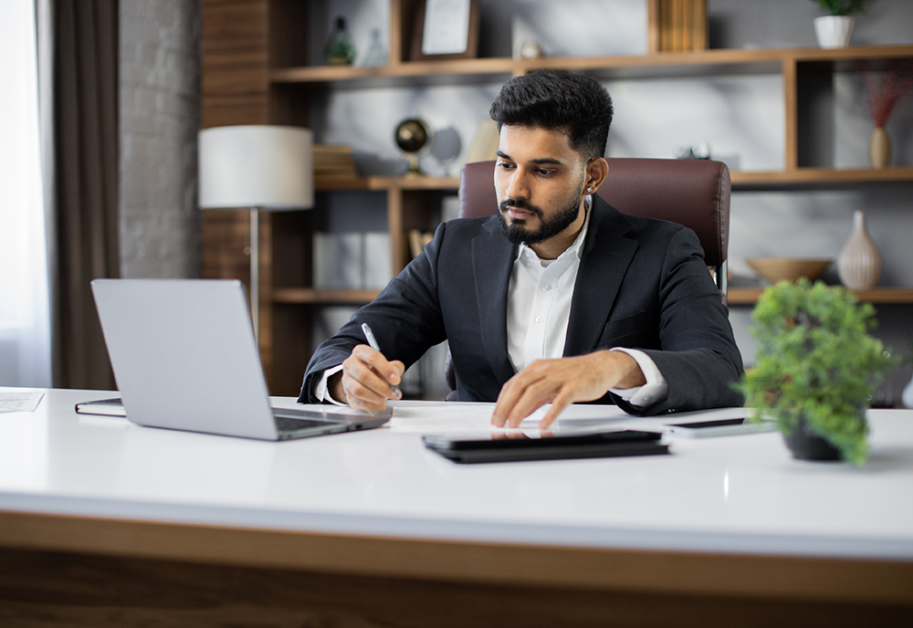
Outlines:
{"type": "MultiPolygon", "coordinates": [[[[395,432],[453,434],[456,432],[529,432],[538,430],[541,418],[550,405],[530,414],[519,428],[498,428],[491,424],[494,403],[408,403],[394,404],[390,429],[395,432]]],[[[630,418],[614,405],[572,405],[561,413],[550,431],[572,431],[611,427],[618,419],[630,418]]]]}

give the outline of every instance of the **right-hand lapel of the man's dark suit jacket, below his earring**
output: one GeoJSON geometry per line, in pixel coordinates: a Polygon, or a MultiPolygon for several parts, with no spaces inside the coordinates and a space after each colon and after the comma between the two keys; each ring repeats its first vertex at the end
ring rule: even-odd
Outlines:
{"type": "Polygon", "coordinates": [[[595,194],[591,211],[564,340],[566,356],[593,351],[637,250],[637,243],[624,237],[633,225],[623,214],[595,194]]]}

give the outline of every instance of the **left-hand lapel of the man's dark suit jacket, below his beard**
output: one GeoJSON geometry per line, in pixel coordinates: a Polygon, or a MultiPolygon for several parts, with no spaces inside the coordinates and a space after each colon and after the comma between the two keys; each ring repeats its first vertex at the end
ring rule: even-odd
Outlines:
{"type": "Polygon", "coordinates": [[[492,372],[501,382],[513,377],[508,358],[508,284],[517,246],[500,233],[497,216],[486,223],[487,235],[472,240],[472,273],[482,345],[492,372]]]}

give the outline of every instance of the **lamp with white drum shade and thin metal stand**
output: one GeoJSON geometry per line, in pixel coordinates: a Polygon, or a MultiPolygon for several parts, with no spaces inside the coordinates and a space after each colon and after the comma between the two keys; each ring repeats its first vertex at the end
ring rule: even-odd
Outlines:
{"type": "Polygon", "coordinates": [[[312,135],[273,125],[200,131],[200,209],[250,212],[250,316],[259,338],[259,211],[314,206],[312,135]]]}

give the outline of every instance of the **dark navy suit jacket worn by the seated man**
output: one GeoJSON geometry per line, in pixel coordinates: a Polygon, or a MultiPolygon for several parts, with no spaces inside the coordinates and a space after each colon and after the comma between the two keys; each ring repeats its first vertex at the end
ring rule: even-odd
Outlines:
{"type": "MultiPolygon", "coordinates": [[[[564,355],[613,347],[645,351],[666,378],[668,394],[643,409],[611,393],[601,400],[630,413],[741,405],[729,385],[742,373],[740,352],[697,235],[675,223],[621,214],[596,195],[592,212],[564,355]]],[[[362,322],[371,325],[386,357],[407,367],[448,340],[457,399],[495,401],[514,374],[507,294],[516,256],[497,216],[440,225],[425,252],[320,345],[299,401],[316,401],[315,378],[364,343],[362,322]]]]}

